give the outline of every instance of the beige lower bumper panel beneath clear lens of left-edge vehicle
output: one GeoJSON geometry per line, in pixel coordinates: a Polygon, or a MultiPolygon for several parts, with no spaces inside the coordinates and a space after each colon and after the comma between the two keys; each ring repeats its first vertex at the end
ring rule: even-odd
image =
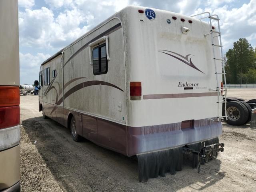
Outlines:
{"type": "MultiPolygon", "coordinates": [[[[0,191],[20,181],[20,145],[0,152],[0,191]]],[[[11,187],[12,188],[12,187],[11,187]]],[[[5,190],[4,190],[5,191],[5,190]]],[[[2,192],[2,191],[1,191],[2,192]]]]}

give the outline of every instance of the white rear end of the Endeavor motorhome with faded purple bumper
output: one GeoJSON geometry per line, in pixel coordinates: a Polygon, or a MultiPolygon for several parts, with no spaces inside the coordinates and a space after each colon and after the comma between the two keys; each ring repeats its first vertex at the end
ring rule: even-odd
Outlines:
{"type": "Polygon", "coordinates": [[[222,66],[217,63],[215,70],[212,38],[205,36],[210,25],[144,7],[128,7],[122,17],[127,26],[128,155],[220,136],[222,107],[214,90],[221,87],[222,75],[217,82],[215,72],[222,66]]]}

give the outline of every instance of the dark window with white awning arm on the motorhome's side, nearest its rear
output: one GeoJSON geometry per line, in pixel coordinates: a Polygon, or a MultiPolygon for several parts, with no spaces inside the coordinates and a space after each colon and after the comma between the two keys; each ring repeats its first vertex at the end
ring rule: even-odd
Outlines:
{"type": "Polygon", "coordinates": [[[92,68],[94,75],[106,74],[108,72],[108,60],[106,56],[106,43],[92,50],[92,68]]]}

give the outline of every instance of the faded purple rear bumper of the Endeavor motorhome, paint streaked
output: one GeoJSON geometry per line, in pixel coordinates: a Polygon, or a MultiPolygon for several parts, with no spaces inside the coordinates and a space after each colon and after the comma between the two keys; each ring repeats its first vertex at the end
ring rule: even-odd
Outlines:
{"type": "Polygon", "coordinates": [[[215,118],[195,120],[193,127],[183,130],[181,129],[181,122],[146,127],[128,127],[128,156],[216,138],[222,134],[222,124],[220,121],[213,121],[212,119],[215,118]]]}

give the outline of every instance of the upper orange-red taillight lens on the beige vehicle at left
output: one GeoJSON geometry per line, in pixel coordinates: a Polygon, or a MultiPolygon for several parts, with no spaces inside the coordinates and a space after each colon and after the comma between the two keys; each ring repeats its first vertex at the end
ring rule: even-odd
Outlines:
{"type": "MultiPolygon", "coordinates": [[[[0,107],[20,105],[18,86],[0,86],[0,107]]],[[[1,117],[0,117],[1,118],[1,117]]]]}

